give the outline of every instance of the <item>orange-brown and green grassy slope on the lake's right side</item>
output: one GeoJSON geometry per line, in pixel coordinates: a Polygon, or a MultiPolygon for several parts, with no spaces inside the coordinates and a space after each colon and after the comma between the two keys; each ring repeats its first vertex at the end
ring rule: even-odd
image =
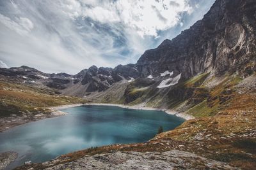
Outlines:
{"type": "MultiPolygon", "coordinates": [[[[81,150],[61,156],[54,164],[72,162],[84,155],[109,153],[116,150],[164,152],[177,149],[227,162],[231,166],[242,169],[255,168],[255,87],[251,90],[237,88],[236,85],[242,79],[231,75],[226,75],[221,81],[217,81],[215,86],[209,86],[215,80],[215,77],[209,77],[209,73],[205,73],[179,83],[174,89],[163,91],[132,86],[127,91],[132,98],[129,104],[139,104],[148,100],[147,106],[164,105],[178,110],[186,108],[184,111],[194,115],[196,119],[184,122],[173,131],[159,134],[147,143],[81,150]]],[[[35,164],[31,167],[45,166],[35,164]]]]}

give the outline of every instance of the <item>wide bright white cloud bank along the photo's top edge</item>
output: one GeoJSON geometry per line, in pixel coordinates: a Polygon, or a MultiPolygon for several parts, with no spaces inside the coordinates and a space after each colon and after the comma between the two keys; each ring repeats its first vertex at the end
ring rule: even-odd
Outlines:
{"type": "Polygon", "coordinates": [[[88,17],[103,24],[119,22],[134,29],[140,36],[155,36],[179,24],[182,13],[191,13],[188,0],[117,0],[117,1],[61,1],[63,13],[88,17]],[[88,6],[89,5],[89,6],[88,6]]]}

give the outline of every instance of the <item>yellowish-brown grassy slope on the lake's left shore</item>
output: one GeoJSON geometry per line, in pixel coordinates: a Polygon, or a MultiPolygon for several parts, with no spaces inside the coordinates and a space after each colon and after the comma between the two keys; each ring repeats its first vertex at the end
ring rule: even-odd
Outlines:
{"type": "Polygon", "coordinates": [[[50,106],[85,103],[77,97],[58,96],[51,89],[0,81],[0,117],[22,112],[47,112],[50,106]]]}

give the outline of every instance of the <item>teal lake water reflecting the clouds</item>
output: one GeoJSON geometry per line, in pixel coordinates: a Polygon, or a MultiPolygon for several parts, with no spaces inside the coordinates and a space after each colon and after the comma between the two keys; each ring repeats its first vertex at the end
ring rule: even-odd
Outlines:
{"type": "Polygon", "coordinates": [[[153,138],[161,125],[174,129],[184,119],[163,111],[129,110],[115,106],[79,106],[48,118],[0,133],[0,152],[18,152],[9,167],[25,161],[44,162],[76,150],[115,143],[141,143],[153,138]]]}

